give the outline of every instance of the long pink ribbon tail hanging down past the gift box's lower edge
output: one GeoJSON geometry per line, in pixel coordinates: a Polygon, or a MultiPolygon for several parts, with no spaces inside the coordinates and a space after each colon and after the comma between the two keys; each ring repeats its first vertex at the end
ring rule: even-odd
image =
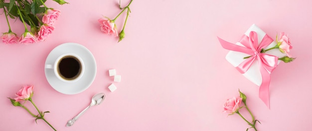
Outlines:
{"type": "Polygon", "coordinates": [[[270,109],[270,95],[269,95],[269,86],[271,81],[270,73],[265,69],[263,65],[260,67],[260,72],[262,76],[262,84],[259,88],[259,97],[270,109]]]}

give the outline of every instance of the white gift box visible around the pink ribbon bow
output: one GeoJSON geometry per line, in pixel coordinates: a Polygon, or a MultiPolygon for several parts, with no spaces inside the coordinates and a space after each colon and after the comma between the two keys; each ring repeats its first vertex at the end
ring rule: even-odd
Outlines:
{"type": "MultiPolygon", "coordinates": [[[[251,31],[255,31],[258,34],[258,43],[260,44],[263,37],[266,35],[266,33],[261,30],[258,26],[256,26],[255,24],[253,24],[246,32],[245,35],[249,36],[249,33],[251,31]]],[[[270,36],[271,37],[271,36],[270,36]]],[[[272,48],[274,46],[276,46],[276,37],[271,37],[273,39],[273,42],[267,46],[265,49],[269,49],[272,48]]],[[[237,42],[236,45],[239,46],[243,46],[241,43],[237,42]]],[[[244,47],[244,46],[243,46],[244,47]]],[[[273,55],[273,56],[277,56],[279,58],[285,57],[286,54],[283,54],[279,49],[273,49],[270,51],[267,51],[266,54],[269,55],[273,55]]],[[[242,62],[244,62],[246,59],[244,59],[244,57],[248,57],[250,55],[245,54],[245,53],[241,53],[241,52],[236,52],[236,51],[229,51],[229,53],[226,55],[225,59],[232,64],[233,66],[237,67],[239,64],[241,64],[242,62]]],[[[279,64],[281,61],[279,60],[277,64],[279,64]]],[[[271,73],[271,72],[269,72],[271,73]]],[[[262,83],[262,77],[261,77],[261,73],[260,73],[260,66],[259,66],[259,61],[256,60],[251,66],[250,68],[243,73],[243,75],[249,79],[250,81],[252,81],[253,83],[255,83],[256,85],[260,86],[262,83]]]]}

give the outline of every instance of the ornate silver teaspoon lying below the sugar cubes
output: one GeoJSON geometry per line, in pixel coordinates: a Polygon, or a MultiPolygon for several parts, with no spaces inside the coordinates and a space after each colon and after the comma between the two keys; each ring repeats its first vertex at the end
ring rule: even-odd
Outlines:
{"type": "Polygon", "coordinates": [[[70,127],[72,125],[74,125],[74,123],[78,120],[78,118],[84,114],[90,107],[95,106],[95,105],[99,105],[103,102],[103,100],[105,99],[105,94],[104,93],[98,93],[95,94],[92,99],[91,99],[91,103],[90,105],[84,109],[83,111],[81,111],[77,116],[75,116],[73,119],[69,120],[66,124],[66,127],[70,127]]]}

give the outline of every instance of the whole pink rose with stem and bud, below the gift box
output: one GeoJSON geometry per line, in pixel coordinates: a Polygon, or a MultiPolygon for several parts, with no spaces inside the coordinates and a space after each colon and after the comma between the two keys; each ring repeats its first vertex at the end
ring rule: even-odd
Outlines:
{"type": "MultiPolygon", "coordinates": [[[[239,91],[239,90],[238,90],[239,91]]],[[[239,91],[240,96],[239,97],[233,97],[232,99],[228,99],[224,104],[223,104],[223,112],[225,113],[229,113],[229,115],[234,115],[234,114],[238,114],[245,122],[247,122],[247,124],[249,126],[251,126],[250,128],[248,128],[246,131],[248,131],[249,129],[253,128],[255,129],[255,131],[257,131],[256,129],[256,123],[259,122],[258,120],[255,120],[254,115],[251,113],[251,111],[249,110],[247,104],[246,104],[246,95],[244,93],[242,93],[241,91],[239,91]],[[244,103],[244,106],[240,106],[241,103],[244,103]],[[246,108],[247,111],[249,112],[249,114],[252,117],[252,121],[249,122],[247,119],[245,119],[240,113],[239,110],[242,108],[246,108]]],[[[260,122],[259,122],[260,123],[260,122]]],[[[261,123],[260,123],[261,124],[261,123]]]]}

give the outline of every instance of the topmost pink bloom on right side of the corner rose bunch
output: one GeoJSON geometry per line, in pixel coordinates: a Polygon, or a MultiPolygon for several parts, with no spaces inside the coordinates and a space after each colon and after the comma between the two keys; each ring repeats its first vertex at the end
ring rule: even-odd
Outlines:
{"type": "Polygon", "coordinates": [[[42,17],[42,22],[48,25],[53,25],[60,16],[61,11],[57,9],[47,9],[42,17]]]}

